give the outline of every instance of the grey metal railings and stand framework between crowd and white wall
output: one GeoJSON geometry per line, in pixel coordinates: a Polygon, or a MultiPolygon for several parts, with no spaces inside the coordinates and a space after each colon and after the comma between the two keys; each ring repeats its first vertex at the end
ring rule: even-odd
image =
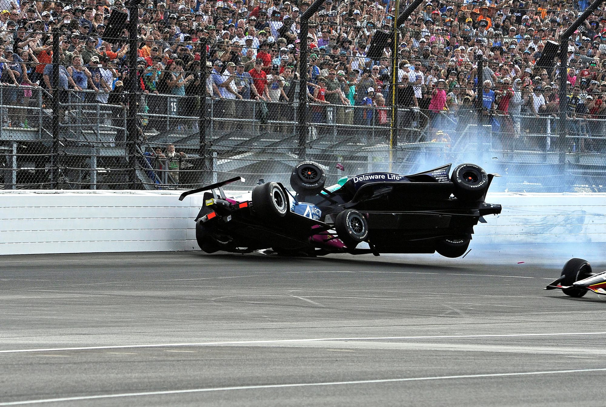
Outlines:
{"type": "MultiPolygon", "coordinates": [[[[52,95],[39,87],[0,86],[0,166],[4,188],[49,188],[58,176],[61,188],[127,188],[128,149],[125,138],[126,108],[96,102],[93,91],[65,91],[59,121],[58,149],[53,150],[50,110],[52,95]],[[16,91],[22,93],[16,93],[16,91]],[[31,93],[26,91],[31,91],[31,93]],[[16,93],[16,95],[15,95],[16,93]],[[29,94],[30,96],[26,96],[29,94]],[[15,118],[24,123],[15,127],[15,118]],[[19,120],[21,119],[22,120],[19,120]],[[8,121],[10,120],[10,124],[8,121]],[[27,126],[25,126],[27,120],[27,126]],[[54,177],[54,178],[53,178],[54,177]]],[[[196,96],[138,94],[139,125],[136,170],[144,188],[193,187],[205,180],[231,174],[288,174],[288,166],[298,160],[298,103],[257,102],[196,96]],[[204,125],[206,156],[199,157],[199,127],[204,125]],[[149,165],[144,154],[154,147],[174,144],[188,158],[177,170],[168,170],[158,160],[149,165]],[[147,165],[146,165],[147,163],[147,165]],[[176,171],[176,172],[175,172],[176,171]],[[173,174],[181,173],[176,177],[173,174]]],[[[390,159],[388,137],[391,107],[314,104],[308,106],[307,154],[325,163],[334,176],[371,170],[407,173],[424,169],[428,163],[468,160],[499,168],[523,168],[507,174],[507,179],[562,178],[558,185],[543,182],[545,190],[569,190],[570,185],[601,188],[606,181],[606,137],[604,119],[567,121],[565,163],[556,149],[559,118],[520,114],[521,131],[512,136],[504,125],[470,125],[458,128],[456,115],[444,113],[448,139],[427,128],[426,110],[398,108],[399,136],[396,154],[390,159]],[[385,114],[387,113],[387,114],[385,114]],[[504,141],[511,141],[507,146],[504,141]],[[345,164],[345,171],[335,170],[345,164]],[[351,170],[350,170],[351,168],[351,170]],[[534,173],[528,168],[533,168],[534,173]],[[350,172],[349,172],[350,171],[350,172]],[[529,175],[530,174],[530,175],[529,175]]],[[[476,112],[473,112],[476,114],[476,112]]],[[[495,115],[496,122],[504,116],[495,115]]],[[[558,146],[559,148],[559,146],[558,146]]],[[[497,170],[501,172],[501,170],[497,170]]],[[[536,181],[536,182],[535,182],[536,181]]],[[[523,184],[523,182],[518,183],[523,184]]],[[[507,187],[512,190],[511,184],[507,187]]],[[[522,190],[526,187],[515,187],[522,190]]]]}

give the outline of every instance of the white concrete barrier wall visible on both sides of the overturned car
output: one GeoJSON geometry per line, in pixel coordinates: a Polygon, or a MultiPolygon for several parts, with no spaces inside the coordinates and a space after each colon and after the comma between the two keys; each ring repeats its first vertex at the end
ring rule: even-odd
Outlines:
{"type": "MultiPolygon", "coordinates": [[[[0,254],[199,250],[202,194],[0,191],[0,254]]],[[[474,244],[606,242],[606,194],[494,193],[474,244]]]]}

